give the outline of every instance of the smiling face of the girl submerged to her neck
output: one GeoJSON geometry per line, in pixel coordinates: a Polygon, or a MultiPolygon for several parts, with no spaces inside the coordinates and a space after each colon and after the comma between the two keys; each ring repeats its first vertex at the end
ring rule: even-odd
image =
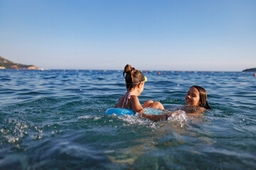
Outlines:
{"type": "Polygon", "coordinates": [[[199,106],[199,104],[201,103],[199,91],[195,87],[191,87],[191,89],[189,89],[185,99],[186,99],[186,105],[189,105],[189,106],[199,106]]]}

